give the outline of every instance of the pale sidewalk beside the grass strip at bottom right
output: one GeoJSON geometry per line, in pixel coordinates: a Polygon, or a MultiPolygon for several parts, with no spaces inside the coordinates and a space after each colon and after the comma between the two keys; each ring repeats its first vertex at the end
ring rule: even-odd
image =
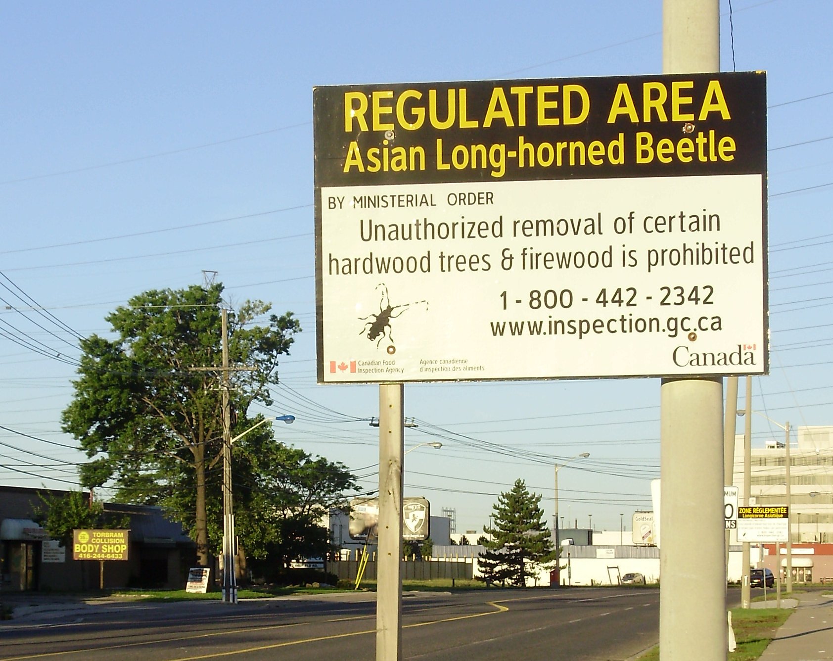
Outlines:
{"type": "Polygon", "coordinates": [[[833,659],[833,597],[822,592],[796,596],[796,612],[778,629],[760,661],[833,659]]]}

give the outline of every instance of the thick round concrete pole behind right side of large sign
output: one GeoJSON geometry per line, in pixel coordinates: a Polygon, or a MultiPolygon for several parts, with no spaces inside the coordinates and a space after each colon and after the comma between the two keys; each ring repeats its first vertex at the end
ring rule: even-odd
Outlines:
{"type": "MultiPolygon", "coordinates": [[[[719,71],[719,0],[664,0],[662,23],[664,73],[719,71]]],[[[662,661],[728,653],[722,413],[722,378],[662,380],[662,661]]]]}

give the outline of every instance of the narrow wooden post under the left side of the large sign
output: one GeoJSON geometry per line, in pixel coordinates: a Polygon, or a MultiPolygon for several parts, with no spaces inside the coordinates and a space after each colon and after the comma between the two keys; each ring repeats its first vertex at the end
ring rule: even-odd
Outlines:
{"type": "Polygon", "coordinates": [[[377,661],[402,659],[402,383],[379,384],[377,661]]]}

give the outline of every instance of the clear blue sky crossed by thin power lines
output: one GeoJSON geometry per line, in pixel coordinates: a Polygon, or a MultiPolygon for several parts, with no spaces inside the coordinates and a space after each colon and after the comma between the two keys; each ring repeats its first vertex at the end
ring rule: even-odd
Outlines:
{"type": "MultiPolygon", "coordinates": [[[[722,70],[766,70],[769,90],[771,375],[754,379],[753,407],[831,424],[833,5],[729,11],[722,70]]],[[[662,56],[660,2],[5,3],[0,37],[0,483],[55,488],[82,460],[60,431],[78,351],[57,323],[107,333],[127,298],[204,270],[232,303],[300,318],[270,412],[297,422],[277,436],[375,488],[362,418],[378,388],[315,383],[313,86],[660,73],[662,56]]],[[[561,515],[616,529],[650,508],[659,392],[657,379],[408,385],[407,446],[444,446],[408,455],[406,494],[456,508],[462,532],[523,478],[549,518],[553,464],[589,452],[559,473],[561,515]]],[[[757,416],[753,430],[781,438],[757,416]]]]}

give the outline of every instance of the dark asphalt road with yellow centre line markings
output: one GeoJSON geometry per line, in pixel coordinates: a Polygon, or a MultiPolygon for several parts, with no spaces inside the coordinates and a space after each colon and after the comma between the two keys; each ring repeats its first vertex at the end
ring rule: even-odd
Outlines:
{"type": "MultiPolygon", "coordinates": [[[[407,593],[403,658],[626,659],[656,643],[658,589],[407,593]]],[[[373,661],[372,593],[244,601],[103,603],[0,623],[0,659],[373,661]]]]}

